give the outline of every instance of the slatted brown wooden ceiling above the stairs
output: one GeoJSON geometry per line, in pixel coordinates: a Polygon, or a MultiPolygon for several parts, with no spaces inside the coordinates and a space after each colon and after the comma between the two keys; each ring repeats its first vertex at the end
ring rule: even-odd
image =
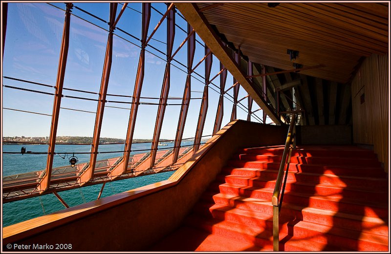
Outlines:
{"type": "Polygon", "coordinates": [[[388,2],[195,3],[220,38],[249,60],[348,83],[360,59],[389,50],[388,2]],[[205,7],[211,8],[205,8],[205,7]],[[203,9],[205,8],[205,9],[203,9]],[[290,60],[287,49],[299,51],[290,60]]]}

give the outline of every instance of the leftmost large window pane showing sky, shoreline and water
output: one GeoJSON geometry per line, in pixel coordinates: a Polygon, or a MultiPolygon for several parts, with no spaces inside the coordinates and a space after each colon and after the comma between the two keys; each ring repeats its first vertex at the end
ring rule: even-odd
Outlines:
{"type": "MultiPolygon", "coordinates": [[[[28,81],[55,86],[64,11],[46,3],[9,3],[7,15],[3,75],[25,81],[3,78],[3,85],[36,92],[3,87],[3,137],[45,143],[50,133],[54,96],[37,92],[55,91],[53,87],[28,81]]],[[[21,153],[22,146],[26,154],[3,154],[3,176],[45,169],[47,145],[4,145],[3,152],[21,153]]]]}

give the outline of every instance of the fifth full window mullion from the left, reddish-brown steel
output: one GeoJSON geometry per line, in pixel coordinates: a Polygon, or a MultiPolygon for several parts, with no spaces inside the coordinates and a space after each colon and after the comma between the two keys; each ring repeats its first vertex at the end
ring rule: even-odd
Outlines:
{"type": "Polygon", "coordinates": [[[178,128],[176,130],[175,144],[174,144],[174,157],[173,164],[177,162],[179,155],[180,144],[182,143],[183,131],[185,129],[185,122],[187,112],[189,110],[189,103],[191,97],[191,71],[193,67],[193,60],[195,54],[195,33],[193,27],[190,24],[187,25],[188,43],[187,43],[187,78],[185,84],[185,90],[183,92],[182,106],[180,110],[178,128]]]}

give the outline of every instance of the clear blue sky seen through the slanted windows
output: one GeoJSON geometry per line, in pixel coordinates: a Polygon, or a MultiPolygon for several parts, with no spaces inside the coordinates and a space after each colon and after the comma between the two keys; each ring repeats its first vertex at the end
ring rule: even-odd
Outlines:
{"type": "MultiPolygon", "coordinates": [[[[64,9],[64,3],[55,3],[64,9]]],[[[102,18],[109,20],[109,3],[75,3],[76,6],[102,18]]],[[[167,6],[164,3],[153,3],[153,7],[164,13],[167,6]]],[[[117,13],[122,5],[118,4],[117,13]]],[[[122,15],[117,27],[125,30],[133,36],[141,36],[141,3],[129,3],[122,15]]],[[[102,77],[102,69],[105,57],[108,32],[100,27],[108,29],[108,24],[103,23],[87,14],[73,8],[71,16],[70,42],[68,61],[65,71],[64,87],[98,93],[102,77]],[[100,26],[97,27],[96,25],[100,26]]],[[[152,10],[149,34],[161,19],[161,14],[152,10]]],[[[176,15],[176,23],[184,28],[186,22],[176,15]]],[[[61,38],[64,24],[64,11],[47,3],[9,3],[7,34],[3,58],[3,76],[9,76],[33,82],[39,82],[55,86],[57,66],[60,53],[61,38]]],[[[166,50],[166,21],[162,23],[155,35],[156,40],[150,44],[159,50],[166,50]],[[158,41],[157,41],[158,40],[158,41]]],[[[109,79],[108,93],[132,95],[137,71],[140,43],[125,33],[115,30],[113,41],[112,67],[109,79]],[[122,38],[120,38],[120,37],[122,38]]],[[[186,38],[186,33],[179,28],[175,30],[174,50],[186,38]]],[[[197,36],[197,40],[202,40],[197,36]]],[[[146,68],[141,96],[159,97],[163,81],[166,58],[158,51],[147,47],[146,68]],[[155,54],[155,55],[154,55],[155,54]],[[161,59],[162,58],[162,59],[161,59]]],[[[194,66],[204,56],[204,48],[197,43],[194,66]]],[[[183,46],[176,54],[179,62],[187,62],[187,48],[183,46]]],[[[173,62],[171,68],[170,97],[182,97],[185,86],[186,73],[184,67],[173,62]]],[[[214,56],[211,78],[219,71],[219,63],[214,56]]],[[[204,75],[204,64],[196,70],[204,75]]],[[[204,84],[203,78],[195,75],[192,79],[192,98],[201,98],[204,84]],[[197,80],[198,79],[198,80],[197,80]]],[[[219,79],[213,82],[219,85],[219,79]]],[[[53,88],[37,86],[3,78],[3,84],[31,90],[54,93],[53,88]]],[[[226,89],[232,86],[233,77],[228,74],[226,89]]],[[[219,94],[209,89],[209,108],[203,135],[211,135],[216,117],[216,109],[219,94]]],[[[19,109],[51,115],[53,96],[34,92],[25,92],[9,88],[2,88],[3,108],[19,109]]],[[[64,91],[65,95],[88,97],[97,99],[97,94],[64,91]]],[[[232,95],[232,90],[229,92],[232,95]]],[[[240,88],[239,99],[247,94],[240,88]]],[[[107,96],[109,101],[130,101],[130,98],[107,96]]],[[[157,103],[158,100],[141,99],[141,102],[157,103]]],[[[181,100],[171,99],[169,104],[181,103],[181,100]]],[[[194,99],[190,103],[187,122],[183,138],[195,136],[195,127],[198,119],[201,100],[194,99]]],[[[242,103],[247,105],[247,100],[242,103]]],[[[232,102],[224,99],[223,124],[229,122],[232,110],[232,102]]],[[[58,124],[58,136],[88,136],[92,137],[95,122],[96,101],[80,100],[74,98],[62,98],[62,108],[58,124]],[[83,110],[88,112],[72,111],[68,109],[83,110]]],[[[157,105],[140,105],[137,115],[134,139],[151,139],[157,114],[157,105]]],[[[130,104],[106,103],[103,117],[101,137],[125,138],[129,121],[130,104]],[[117,107],[117,108],[113,108],[117,107]],[[127,109],[120,109],[120,108],[127,109]]],[[[258,109],[254,103],[253,110],[258,109]]],[[[174,139],[178,123],[180,106],[168,105],[164,117],[160,138],[174,139]]],[[[3,109],[3,136],[49,136],[51,117],[47,115],[29,114],[3,109]]],[[[261,116],[261,111],[258,112],[261,116]]],[[[247,113],[238,108],[238,118],[246,119],[247,113]]]]}

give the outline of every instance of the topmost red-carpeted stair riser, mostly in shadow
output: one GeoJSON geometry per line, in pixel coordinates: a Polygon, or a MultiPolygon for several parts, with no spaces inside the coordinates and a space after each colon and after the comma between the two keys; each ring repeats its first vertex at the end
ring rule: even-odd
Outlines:
{"type": "MultiPolygon", "coordinates": [[[[280,149],[243,149],[237,155],[280,155],[282,156],[283,148],[280,149]]],[[[238,158],[237,155],[234,158],[238,158]]],[[[292,150],[292,156],[313,156],[313,157],[333,157],[333,158],[368,158],[376,159],[377,156],[371,151],[343,151],[343,150],[311,150],[305,149],[292,150]]]]}

